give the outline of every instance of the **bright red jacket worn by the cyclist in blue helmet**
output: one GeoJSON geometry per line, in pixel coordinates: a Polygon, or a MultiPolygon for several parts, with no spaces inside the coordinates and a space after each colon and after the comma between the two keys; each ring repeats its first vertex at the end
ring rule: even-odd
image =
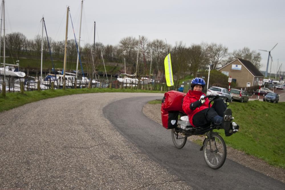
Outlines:
{"type": "MultiPolygon", "coordinates": [[[[200,92],[200,91],[193,91],[193,90],[189,90],[188,93],[186,94],[186,96],[183,99],[183,111],[188,115],[189,117],[189,122],[191,123],[192,126],[194,126],[193,124],[193,116],[198,113],[199,111],[209,108],[209,100],[206,99],[205,103],[203,103],[200,108],[196,108],[194,110],[190,109],[190,104],[199,100],[200,96],[204,95],[204,93],[200,92]]],[[[195,127],[195,126],[194,126],[195,127]]]]}

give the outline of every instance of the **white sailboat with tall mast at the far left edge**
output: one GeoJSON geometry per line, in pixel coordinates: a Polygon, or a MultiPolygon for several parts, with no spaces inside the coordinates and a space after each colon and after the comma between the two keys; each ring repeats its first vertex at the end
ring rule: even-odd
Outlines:
{"type": "MultiPolygon", "coordinates": [[[[0,44],[1,44],[1,36],[2,36],[2,16],[3,16],[3,67],[0,67],[0,75],[4,75],[4,78],[6,76],[11,76],[11,77],[25,77],[26,74],[24,72],[19,71],[19,63],[16,65],[13,64],[6,64],[5,63],[5,2],[2,0],[2,12],[1,12],[1,26],[0,26],[0,44]],[[6,66],[8,65],[8,66],[6,66]],[[16,68],[15,68],[16,67],[16,68]]],[[[1,45],[0,45],[1,48],[1,45]]]]}

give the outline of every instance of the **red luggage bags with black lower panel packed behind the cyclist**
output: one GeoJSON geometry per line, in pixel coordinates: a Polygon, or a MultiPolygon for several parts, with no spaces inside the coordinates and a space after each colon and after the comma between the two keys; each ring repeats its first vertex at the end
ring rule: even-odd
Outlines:
{"type": "Polygon", "coordinates": [[[184,93],[178,91],[168,91],[164,94],[161,103],[161,121],[166,129],[173,129],[177,125],[178,114],[183,112],[182,100],[184,93]]]}

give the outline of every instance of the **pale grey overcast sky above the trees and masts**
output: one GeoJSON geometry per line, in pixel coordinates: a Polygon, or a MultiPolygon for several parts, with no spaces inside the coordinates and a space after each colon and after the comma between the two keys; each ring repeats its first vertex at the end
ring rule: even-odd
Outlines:
{"type": "MultiPolygon", "coordinates": [[[[28,39],[41,35],[40,20],[44,16],[48,36],[64,40],[66,8],[79,35],[81,0],[5,0],[6,34],[21,32],[28,39]]],[[[221,43],[229,52],[245,46],[251,50],[272,50],[272,73],[277,59],[285,70],[285,1],[284,0],[84,0],[81,43],[95,41],[117,45],[127,36],[146,36],[149,40],[167,40],[174,45],[183,41],[187,46],[201,42],[221,43]]],[[[69,39],[74,39],[71,23],[69,39]]],[[[266,69],[268,52],[260,51],[261,70],[266,69]]],[[[270,70],[270,63],[269,69],[270,70]]]]}

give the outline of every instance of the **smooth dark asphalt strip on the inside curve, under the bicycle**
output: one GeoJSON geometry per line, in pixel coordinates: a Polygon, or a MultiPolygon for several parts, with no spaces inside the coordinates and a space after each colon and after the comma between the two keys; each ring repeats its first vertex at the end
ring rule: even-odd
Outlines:
{"type": "Polygon", "coordinates": [[[180,150],[175,148],[171,131],[142,113],[147,101],[146,97],[122,99],[107,105],[103,112],[125,138],[194,189],[285,189],[284,183],[228,159],[220,169],[211,169],[200,146],[192,142],[180,150]]]}

